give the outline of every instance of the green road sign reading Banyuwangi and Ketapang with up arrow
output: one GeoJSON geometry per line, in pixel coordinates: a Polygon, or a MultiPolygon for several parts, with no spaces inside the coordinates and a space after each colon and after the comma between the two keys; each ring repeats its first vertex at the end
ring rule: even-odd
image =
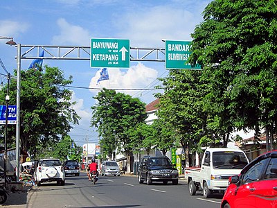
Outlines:
{"type": "Polygon", "coordinates": [[[91,67],[129,68],[129,40],[91,38],[91,67]]]}

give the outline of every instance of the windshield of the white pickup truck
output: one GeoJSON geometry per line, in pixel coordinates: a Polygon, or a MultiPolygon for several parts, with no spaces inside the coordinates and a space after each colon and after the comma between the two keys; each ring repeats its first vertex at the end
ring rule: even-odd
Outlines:
{"type": "Polygon", "coordinates": [[[248,164],[247,157],[242,152],[213,153],[213,167],[218,169],[242,169],[248,164]]]}

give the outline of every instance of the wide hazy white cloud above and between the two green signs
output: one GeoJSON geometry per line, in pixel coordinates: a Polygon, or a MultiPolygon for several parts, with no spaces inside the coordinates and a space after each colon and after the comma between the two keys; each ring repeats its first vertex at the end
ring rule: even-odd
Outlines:
{"type": "Polygon", "coordinates": [[[202,20],[184,7],[170,5],[132,10],[120,16],[114,24],[121,31],[118,36],[132,40],[132,46],[163,46],[162,39],[191,40],[190,33],[202,20]],[[119,21],[120,19],[120,21],[119,21]]]}

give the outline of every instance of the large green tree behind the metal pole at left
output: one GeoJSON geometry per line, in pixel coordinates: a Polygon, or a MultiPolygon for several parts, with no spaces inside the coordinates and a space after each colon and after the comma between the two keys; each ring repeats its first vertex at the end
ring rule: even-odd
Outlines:
{"type": "MultiPolygon", "coordinates": [[[[16,71],[15,71],[16,76],[16,71]]],[[[37,153],[37,146],[53,146],[71,129],[71,123],[78,123],[80,117],[73,110],[72,92],[64,87],[72,83],[57,67],[47,65],[40,69],[21,71],[21,148],[37,153]]],[[[16,80],[10,82],[10,105],[16,103],[16,80]]],[[[0,98],[5,98],[5,89],[0,98]]],[[[10,128],[15,135],[15,127],[10,128]]],[[[12,135],[10,132],[10,135],[12,135]]],[[[9,140],[10,143],[10,140],[9,140]]]]}

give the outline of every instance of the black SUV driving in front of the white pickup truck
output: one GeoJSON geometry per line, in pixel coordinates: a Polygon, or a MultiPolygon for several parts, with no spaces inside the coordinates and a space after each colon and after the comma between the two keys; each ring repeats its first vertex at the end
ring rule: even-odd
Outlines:
{"type": "Polygon", "coordinates": [[[142,184],[146,180],[146,184],[150,185],[152,182],[163,182],[168,184],[172,181],[173,185],[178,184],[178,170],[172,166],[168,157],[143,157],[138,170],[138,180],[142,184]]]}

